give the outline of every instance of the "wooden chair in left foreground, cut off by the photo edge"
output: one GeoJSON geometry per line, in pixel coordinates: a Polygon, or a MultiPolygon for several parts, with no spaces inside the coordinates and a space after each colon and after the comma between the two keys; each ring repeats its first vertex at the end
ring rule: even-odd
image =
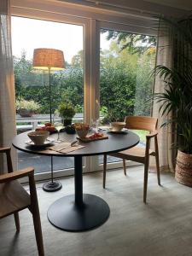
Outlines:
{"type": "Polygon", "coordinates": [[[0,153],[5,153],[9,173],[0,175],[0,218],[10,214],[15,216],[16,230],[20,231],[20,210],[28,208],[32,212],[36,241],[38,245],[38,255],[44,256],[44,243],[41,230],[41,221],[38,210],[38,197],[34,181],[34,169],[26,169],[13,172],[10,156],[10,148],[0,148],[0,153]],[[30,195],[17,181],[20,177],[29,177],[30,195]]]}

